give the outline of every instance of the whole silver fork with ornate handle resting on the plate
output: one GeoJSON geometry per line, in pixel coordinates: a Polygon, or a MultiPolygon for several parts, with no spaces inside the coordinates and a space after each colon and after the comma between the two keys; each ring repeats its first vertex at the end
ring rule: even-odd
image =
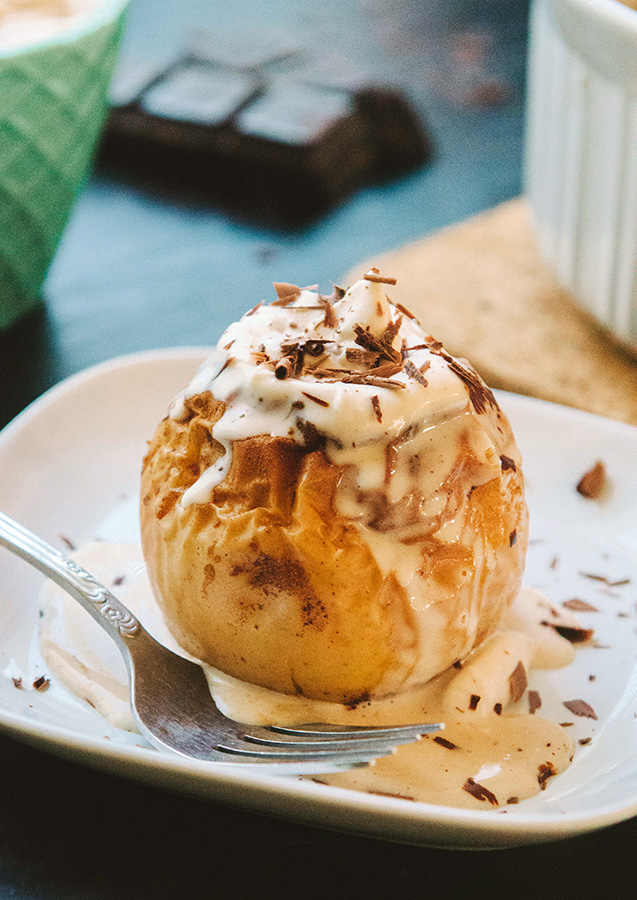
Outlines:
{"type": "Polygon", "coordinates": [[[159,750],[226,765],[269,764],[272,772],[328,772],[365,765],[444,728],[242,725],[217,708],[200,665],[159,644],[93,575],[3,513],[0,545],[67,591],[113,638],[128,669],[139,730],[159,750]]]}

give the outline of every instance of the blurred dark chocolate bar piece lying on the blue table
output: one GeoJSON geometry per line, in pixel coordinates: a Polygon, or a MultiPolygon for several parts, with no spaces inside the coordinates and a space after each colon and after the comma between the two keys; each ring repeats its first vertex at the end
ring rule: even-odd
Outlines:
{"type": "Polygon", "coordinates": [[[201,53],[159,71],[128,66],[111,97],[103,165],[275,226],[307,224],[430,153],[396,88],[311,83],[201,53]]]}

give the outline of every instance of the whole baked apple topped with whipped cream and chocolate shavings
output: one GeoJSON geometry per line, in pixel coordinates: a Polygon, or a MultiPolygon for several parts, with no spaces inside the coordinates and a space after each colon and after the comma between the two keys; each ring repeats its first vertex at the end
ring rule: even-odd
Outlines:
{"type": "Polygon", "coordinates": [[[141,527],[176,641],[358,704],[460,665],[520,589],[520,454],[498,403],[386,296],[275,285],[158,425],[141,527]]]}

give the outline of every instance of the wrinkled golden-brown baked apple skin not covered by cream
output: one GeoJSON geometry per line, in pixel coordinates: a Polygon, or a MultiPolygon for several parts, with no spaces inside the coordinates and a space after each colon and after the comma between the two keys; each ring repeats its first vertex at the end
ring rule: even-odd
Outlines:
{"type": "Polygon", "coordinates": [[[209,391],[190,397],[185,417],[160,423],[143,465],[144,556],[188,652],[248,682],[354,704],[425,683],[497,627],[524,570],[519,465],[473,484],[470,451],[459,458],[443,487],[449,510],[462,506],[460,533],[412,528],[420,566],[406,586],[381,568],[368,529],[339,513],[346,473],[320,445],[235,441],[210,501],[183,506],[224,453],[212,437],[224,408],[209,391]]]}

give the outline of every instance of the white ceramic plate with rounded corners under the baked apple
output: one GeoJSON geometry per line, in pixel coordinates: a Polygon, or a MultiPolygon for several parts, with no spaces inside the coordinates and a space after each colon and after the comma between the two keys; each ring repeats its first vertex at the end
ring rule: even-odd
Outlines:
{"type": "MultiPolygon", "coordinates": [[[[137,493],[145,442],[202,355],[193,349],[128,356],[45,394],[0,433],[0,509],[57,546],[64,537],[76,543],[93,537],[137,493]]],[[[428,846],[515,846],[634,815],[637,429],[515,395],[500,395],[500,401],[525,457],[532,516],[526,582],[556,603],[580,597],[599,610],[580,616],[595,628],[600,646],[581,650],[568,669],[540,673],[534,685],[543,713],[574,721],[577,748],[571,768],[537,797],[506,812],[459,810],[162,756],[110,727],[61,686],[46,693],[29,689],[44,671],[34,640],[41,576],[4,551],[0,728],[41,749],[162,787],[428,846]],[[603,502],[575,491],[596,459],[605,462],[612,481],[603,502]],[[16,669],[27,689],[15,688],[16,669]],[[563,700],[576,698],[594,707],[597,721],[563,707],[563,700]]]]}

